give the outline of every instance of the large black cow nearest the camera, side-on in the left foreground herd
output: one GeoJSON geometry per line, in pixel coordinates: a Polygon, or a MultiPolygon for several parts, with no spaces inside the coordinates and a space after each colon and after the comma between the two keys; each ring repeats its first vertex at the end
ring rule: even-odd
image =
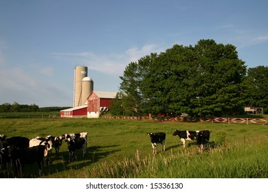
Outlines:
{"type": "Polygon", "coordinates": [[[15,147],[12,150],[11,157],[13,164],[16,167],[16,171],[19,171],[18,176],[22,177],[23,167],[25,164],[31,165],[34,163],[38,163],[39,167],[38,173],[39,176],[41,176],[47,153],[48,153],[47,143],[45,143],[45,145],[38,145],[29,148],[15,147]]]}

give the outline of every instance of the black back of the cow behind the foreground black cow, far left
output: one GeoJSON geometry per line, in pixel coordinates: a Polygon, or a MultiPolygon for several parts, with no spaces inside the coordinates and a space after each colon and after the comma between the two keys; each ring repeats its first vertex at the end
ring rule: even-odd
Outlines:
{"type": "Polygon", "coordinates": [[[29,147],[29,139],[23,136],[12,136],[10,138],[6,138],[2,141],[3,147],[6,148],[10,145],[14,145],[14,147],[19,148],[27,148],[29,147]]]}

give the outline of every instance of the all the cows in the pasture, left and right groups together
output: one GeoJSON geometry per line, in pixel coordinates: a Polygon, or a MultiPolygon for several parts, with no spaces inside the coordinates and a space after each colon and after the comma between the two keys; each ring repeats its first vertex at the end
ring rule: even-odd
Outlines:
{"type": "MultiPolygon", "coordinates": [[[[153,154],[157,154],[157,145],[161,144],[161,150],[165,151],[166,133],[147,133],[150,136],[150,143],[153,147],[153,154]]],[[[23,166],[25,164],[38,164],[39,176],[41,176],[43,167],[46,164],[47,155],[55,149],[56,154],[60,151],[63,140],[67,143],[69,152],[69,162],[74,158],[76,149],[82,149],[82,156],[87,153],[87,132],[76,134],[63,134],[62,136],[47,135],[44,138],[36,136],[34,139],[27,139],[23,136],[12,136],[7,138],[4,134],[0,134],[0,169],[1,166],[11,165],[16,170],[15,175],[23,176],[23,166]]],[[[210,139],[210,131],[188,131],[175,130],[173,136],[179,136],[186,147],[186,141],[197,141],[199,150],[203,151],[203,147],[210,139]]]]}

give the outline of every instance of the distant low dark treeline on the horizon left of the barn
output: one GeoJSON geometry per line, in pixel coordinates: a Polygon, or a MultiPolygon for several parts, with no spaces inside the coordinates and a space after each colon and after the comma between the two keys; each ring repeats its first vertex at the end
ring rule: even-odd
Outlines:
{"type": "Polygon", "coordinates": [[[70,108],[70,107],[44,107],[39,108],[36,104],[25,105],[25,104],[18,104],[14,102],[14,104],[1,104],[0,105],[0,112],[59,112],[60,110],[70,108]]]}

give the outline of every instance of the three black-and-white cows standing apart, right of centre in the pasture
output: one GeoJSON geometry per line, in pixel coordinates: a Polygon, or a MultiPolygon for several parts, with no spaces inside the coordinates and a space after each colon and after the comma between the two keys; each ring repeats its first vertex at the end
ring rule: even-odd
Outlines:
{"type": "MultiPolygon", "coordinates": [[[[165,151],[166,145],[166,133],[164,132],[157,132],[157,133],[147,133],[150,136],[150,143],[153,147],[153,154],[157,153],[157,144],[161,144],[162,152],[165,151]]],[[[208,143],[210,140],[210,131],[203,130],[203,131],[188,131],[188,130],[175,130],[172,134],[173,136],[179,136],[179,139],[183,143],[183,147],[185,148],[186,141],[194,141],[197,140],[197,145],[199,147],[199,151],[203,151],[205,144],[208,143]]]]}

